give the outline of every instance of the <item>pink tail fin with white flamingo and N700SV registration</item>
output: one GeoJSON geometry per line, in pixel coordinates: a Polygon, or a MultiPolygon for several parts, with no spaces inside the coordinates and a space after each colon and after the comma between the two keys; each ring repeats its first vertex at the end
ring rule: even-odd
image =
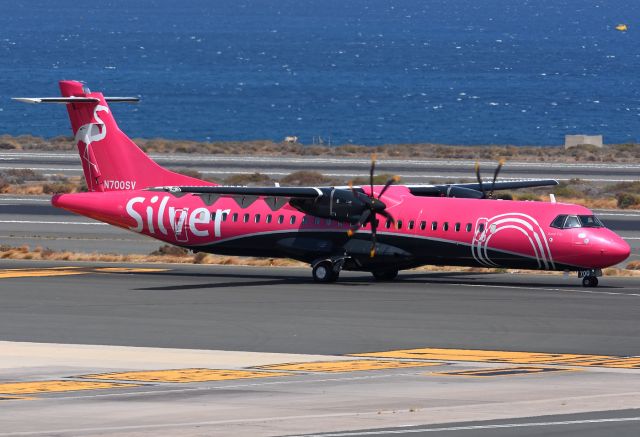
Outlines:
{"type": "Polygon", "coordinates": [[[60,81],[60,91],[62,98],[18,100],[66,104],[89,191],[134,190],[164,185],[215,185],[159,166],[118,128],[107,102],[131,102],[137,99],[105,98],[102,93],[92,93],[76,81],[60,81]]]}

